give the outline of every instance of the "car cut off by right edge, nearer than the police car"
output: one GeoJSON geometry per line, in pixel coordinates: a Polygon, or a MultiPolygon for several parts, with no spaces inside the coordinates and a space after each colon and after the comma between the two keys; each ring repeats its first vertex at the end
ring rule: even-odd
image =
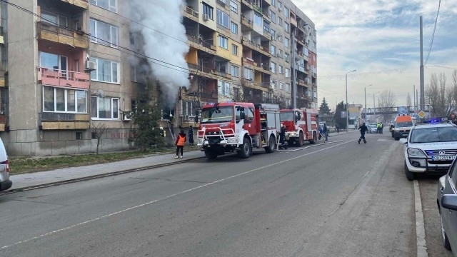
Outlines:
{"type": "Polygon", "coordinates": [[[453,161],[448,173],[439,179],[436,203],[441,220],[441,238],[444,248],[457,257],[457,165],[453,161]]]}

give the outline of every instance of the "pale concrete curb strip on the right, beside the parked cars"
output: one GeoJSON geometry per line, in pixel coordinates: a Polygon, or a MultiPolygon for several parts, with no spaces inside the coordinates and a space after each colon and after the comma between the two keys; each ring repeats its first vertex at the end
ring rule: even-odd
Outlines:
{"type": "Polygon", "coordinates": [[[426,245],[426,230],[423,222],[421,191],[419,189],[419,182],[413,181],[414,184],[414,207],[416,208],[416,243],[417,243],[417,257],[428,257],[426,245]]]}

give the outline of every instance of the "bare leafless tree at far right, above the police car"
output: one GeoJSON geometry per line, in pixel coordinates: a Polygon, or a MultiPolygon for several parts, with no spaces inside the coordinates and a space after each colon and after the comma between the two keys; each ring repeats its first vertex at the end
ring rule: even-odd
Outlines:
{"type": "Polygon", "coordinates": [[[426,89],[426,103],[430,105],[431,113],[435,116],[447,117],[456,108],[456,86],[446,89],[446,75],[432,74],[430,84],[426,89]]]}

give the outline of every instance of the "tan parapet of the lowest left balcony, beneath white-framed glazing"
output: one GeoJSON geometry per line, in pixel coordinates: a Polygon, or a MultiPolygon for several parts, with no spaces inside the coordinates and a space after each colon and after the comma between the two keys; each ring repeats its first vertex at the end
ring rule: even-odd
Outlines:
{"type": "Polygon", "coordinates": [[[89,114],[56,114],[39,113],[40,130],[89,129],[91,116],[89,114]]]}

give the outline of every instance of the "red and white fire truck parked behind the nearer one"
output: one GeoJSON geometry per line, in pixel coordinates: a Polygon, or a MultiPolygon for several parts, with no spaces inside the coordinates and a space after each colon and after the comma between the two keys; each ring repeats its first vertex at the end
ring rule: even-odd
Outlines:
{"type": "Polygon", "coordinates": [[[319,136],[316,109],[282,109],[281,124],[286,128],[288,145],[303,146],[304,141],[316,143],[319,136]]]}

